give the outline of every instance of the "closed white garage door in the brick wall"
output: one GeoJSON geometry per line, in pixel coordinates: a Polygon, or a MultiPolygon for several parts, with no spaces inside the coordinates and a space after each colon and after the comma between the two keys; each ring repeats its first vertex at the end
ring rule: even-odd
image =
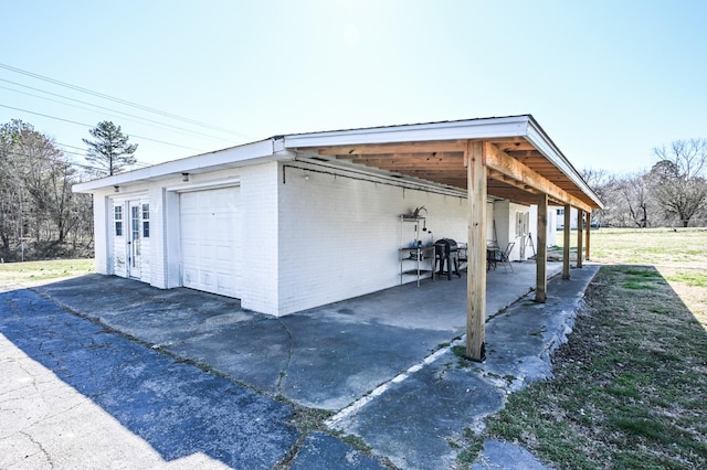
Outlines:
{"type": "Polygon", "coordinates": [[[240,297],[239,194],[239,188],[222,188],[180,195],[184,287],[240,297]]]}

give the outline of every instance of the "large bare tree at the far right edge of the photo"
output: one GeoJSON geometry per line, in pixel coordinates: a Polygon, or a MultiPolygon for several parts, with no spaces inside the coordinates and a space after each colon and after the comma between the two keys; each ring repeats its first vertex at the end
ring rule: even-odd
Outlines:
{"type": "Polygon", "coordinates": [[[707,139],[676,140],[653,149],[651,189],[663,211],[686,227],[707,206],[707,139]]]}

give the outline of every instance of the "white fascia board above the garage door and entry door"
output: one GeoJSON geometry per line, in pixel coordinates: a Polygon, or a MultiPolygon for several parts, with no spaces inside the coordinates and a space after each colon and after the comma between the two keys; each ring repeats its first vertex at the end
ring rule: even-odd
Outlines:
{"type": "Polygon", "coordinates": [[[204,173],[226,168],[244,167],[265,161],[292,160],[294,156],[283,151],[278,140],[266,139],[243,146],[231,147],[210,153],[187,157],[180,160],[159,163],[140,170],[128,171],[99,180],[74,184],[73,192],[93,192],[103,188],[123,186],[131,183],[167,179],[181,173],[204,173]]]}

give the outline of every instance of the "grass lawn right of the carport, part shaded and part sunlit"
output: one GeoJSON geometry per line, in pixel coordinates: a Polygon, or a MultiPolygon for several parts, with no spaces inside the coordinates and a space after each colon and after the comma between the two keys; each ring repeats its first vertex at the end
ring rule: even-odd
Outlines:
{"type": "Polygon", "coordinates": [[[563,469],[707,468],[707,231],[592,231],[591,258],[555,378],[465,432],[460,462],[495,438],[563,469]]]}

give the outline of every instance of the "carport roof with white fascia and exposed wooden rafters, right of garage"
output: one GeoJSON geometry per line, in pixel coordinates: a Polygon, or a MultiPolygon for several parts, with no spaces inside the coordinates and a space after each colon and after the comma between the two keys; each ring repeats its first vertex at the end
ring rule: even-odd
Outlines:
{"type": "Polygon", "coordinates": [[[570,161],[530,115],[284,136],[285,148],[317,160],[389,171],[467,189],[469,142],[484,142],[489,196],[535,204],[547,193],[551,204],[584,211],[601,209],[570,161]]]}

